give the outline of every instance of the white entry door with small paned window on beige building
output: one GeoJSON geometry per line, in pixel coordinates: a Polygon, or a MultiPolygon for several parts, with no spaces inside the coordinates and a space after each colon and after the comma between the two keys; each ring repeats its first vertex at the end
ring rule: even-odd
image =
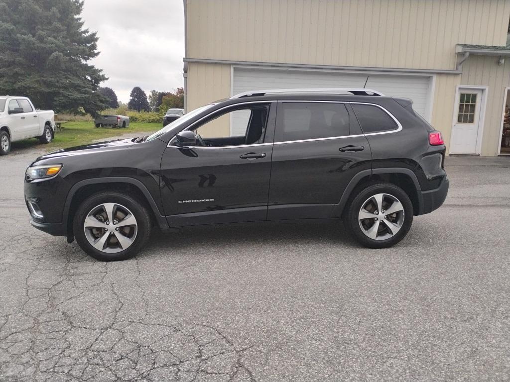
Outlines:
{"type": "Polygon", "coordinates": [[[455,122],[451,133],[451,154],[476,154],[480,129],[482,90],[458,89],[455,122]]]}

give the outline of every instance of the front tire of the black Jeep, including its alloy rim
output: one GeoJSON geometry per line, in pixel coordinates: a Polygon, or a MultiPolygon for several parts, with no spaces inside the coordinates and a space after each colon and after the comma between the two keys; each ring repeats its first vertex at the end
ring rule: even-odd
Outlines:
{"type": "Polygon", "coordinates": [[[118,192],[90,196],[80,204],[73,219],[76,241],[84,252],[99,261],[126,260],[135,256],[147,242],[151,228],[147,209],[138,200],[118,192]],[[114,221],[110,222],[108,216],[114,221]],[[86,219],[90,224],[88,227],[86,219]],[[115,219],[119,219],[118,222],[115,219]],[[121,226],[123,222],[125,225],[121,226]],[[98,227],[92,228],[96,225],[98,227]]]}

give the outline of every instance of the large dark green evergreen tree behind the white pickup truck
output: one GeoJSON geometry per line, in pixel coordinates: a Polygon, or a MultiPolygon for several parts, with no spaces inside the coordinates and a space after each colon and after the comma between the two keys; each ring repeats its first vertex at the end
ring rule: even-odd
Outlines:
{"type": "Polygon", "coordinates": [[[96,115],[107,79],[88,64],[97,36],[83,28],[80,0],[0,0],[0,94],[28,96],[38,108],[96,115]]]}

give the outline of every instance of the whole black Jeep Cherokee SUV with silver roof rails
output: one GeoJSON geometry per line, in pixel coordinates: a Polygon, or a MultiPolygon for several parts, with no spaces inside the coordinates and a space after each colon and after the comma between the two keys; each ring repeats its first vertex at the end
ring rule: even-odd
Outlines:
{"type": "Polygon", "coordinates": [[[153,226],[284,220],[343,219],[390,247],[446,198],[441,134],[410,100],[328,92],[243,93],[149,137],[43,155],[25,176],[31,223],[99,260],[134,256],[153,226]]]}

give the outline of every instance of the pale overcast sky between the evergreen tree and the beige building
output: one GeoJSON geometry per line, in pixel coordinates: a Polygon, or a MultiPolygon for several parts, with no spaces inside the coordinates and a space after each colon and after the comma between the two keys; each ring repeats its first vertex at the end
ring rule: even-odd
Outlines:
{"type": "Polygon", "coordinates": [[[85,27],[97,32],[99,56],[92,62],[122,102],[131,89],[171,91],[184,85],[182,0],[85,0],[85,27]]]}

